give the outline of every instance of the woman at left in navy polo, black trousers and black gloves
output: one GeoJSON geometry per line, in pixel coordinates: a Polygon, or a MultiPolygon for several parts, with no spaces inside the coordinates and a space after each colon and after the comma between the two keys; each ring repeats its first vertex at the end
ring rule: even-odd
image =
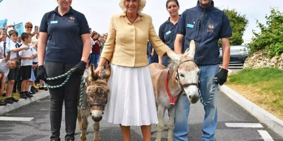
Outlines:
{"type": "MultiPolygon", "coordinates": [[[[62,106],[65,103],[65,140],[75,140],[77,98],[80,79],[86,68],[91,50],[89,27],[84,14],[74,10],[72,0],[57,0],[58,7],[45,13],[39,33],[37,76],[45,80],[59,76],[75,67],[69,81],[60,88],[49,89],[51,141],[60,140],[62,106]],[[47,42],[48,41],[48,42],[47,42]],[[47,48],[47,50],[46,50],[47,48]],[[45,67],[43,61],[45,60],[45,67]]],[[[61,84],[66,78],[47,81],[51,86],[61,84]]]]}

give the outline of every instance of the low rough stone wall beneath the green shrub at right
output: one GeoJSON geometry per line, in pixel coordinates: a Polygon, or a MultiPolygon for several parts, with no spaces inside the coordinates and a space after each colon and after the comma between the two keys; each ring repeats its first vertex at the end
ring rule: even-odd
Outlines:
{"type": "Polygon", "coordinates": [[[268,56],[263,56],[262,51],[258,51],[246,59],[243,67],[252,69],[273,67],[283,70],[283,54],[269,58],[268,56]]]}

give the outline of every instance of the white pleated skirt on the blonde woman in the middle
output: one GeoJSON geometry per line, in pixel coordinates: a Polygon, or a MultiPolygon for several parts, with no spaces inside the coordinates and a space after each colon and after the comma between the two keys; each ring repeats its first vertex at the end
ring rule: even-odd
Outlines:
{"type": "Polygon", "coordinates": [[[110,94],[103,119],[123,126],[157,123],[157,111],[149,66],[111,64],[110,94]]]}

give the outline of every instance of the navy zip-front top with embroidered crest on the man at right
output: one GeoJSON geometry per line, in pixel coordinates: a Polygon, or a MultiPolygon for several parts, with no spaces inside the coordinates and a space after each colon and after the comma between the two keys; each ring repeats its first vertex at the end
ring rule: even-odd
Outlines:
{"type": "Polygon", "coordinates": [[[195,41],[194,61],[197,65],[216,65],[219,64],[218,40],[231,37],[232,29],[227,15],[215,8],[213,1],[208,8],[201,7],[197,1],[196,7],[181,14],[176,33],[184,35],[185,49],[191,40],[195,41]]]}

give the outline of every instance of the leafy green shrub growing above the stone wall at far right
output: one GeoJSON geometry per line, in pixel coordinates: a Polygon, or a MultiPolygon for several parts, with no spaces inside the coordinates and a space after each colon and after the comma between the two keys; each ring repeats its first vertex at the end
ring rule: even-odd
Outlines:
{"type": "Polygon", "coordinates": [[[252,31],[254,37],[248,44],[251,49],[250,54],[258,50],[264,50],[263,53],[269,55],[269,57],[283,53],[283,13],[275,8],[270,9],[270,15],[265,16],[266,25],[257,20],[257,27],[261,32],[252,31]]]}

